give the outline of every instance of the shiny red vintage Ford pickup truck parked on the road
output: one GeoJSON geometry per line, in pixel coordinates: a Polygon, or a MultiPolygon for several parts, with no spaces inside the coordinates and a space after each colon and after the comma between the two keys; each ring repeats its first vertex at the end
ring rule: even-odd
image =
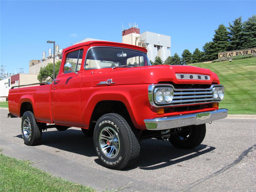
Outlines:
{"type": "Polygon", "coordinates": [[[227,117],[218,107],[224,87],[209,69],[152,66],[145,48],[116,42],[85,42],[62,54],[52,83],[9,91],[8,116],[22,117],[26,145],[38,144],[48,128],[80,127],[93,136],[102,164],[120,170],[136,161],[141,140],[193,148],[206,123],[227,117]]]}

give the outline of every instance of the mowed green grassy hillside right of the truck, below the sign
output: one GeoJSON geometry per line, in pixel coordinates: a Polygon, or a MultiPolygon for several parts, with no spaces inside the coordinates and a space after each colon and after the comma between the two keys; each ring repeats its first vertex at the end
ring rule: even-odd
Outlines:
{"type": "Polygon", "coordinates": [[[225,87],[220,108],[229,114],[256,114],[256,57],[216,63],[193,63],[215,72],[225,87]]]}

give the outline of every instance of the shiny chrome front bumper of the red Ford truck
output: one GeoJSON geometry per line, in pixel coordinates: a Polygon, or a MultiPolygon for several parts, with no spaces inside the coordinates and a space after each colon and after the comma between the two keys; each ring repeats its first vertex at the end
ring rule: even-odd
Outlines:
{"type": "Polygon", "coordinates": [[[165,130],[188,125],[205,124],[214,120],[226,118],[227,115],[227,109],[218,109],[201,113],[175,115],[155,119],[144,119],[144,122],[148,130],[165,130]]]}

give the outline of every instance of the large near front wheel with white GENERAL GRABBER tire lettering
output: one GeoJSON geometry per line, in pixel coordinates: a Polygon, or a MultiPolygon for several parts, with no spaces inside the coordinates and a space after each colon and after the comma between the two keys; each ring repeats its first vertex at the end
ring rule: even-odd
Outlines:
{"type": "Polygon", "coordinates": [[[119,114],[101,116],[96,123],[93,141],[96,153],[106,167],[124,169],[132,165],[140,153],[137,130],[119,114]]]}

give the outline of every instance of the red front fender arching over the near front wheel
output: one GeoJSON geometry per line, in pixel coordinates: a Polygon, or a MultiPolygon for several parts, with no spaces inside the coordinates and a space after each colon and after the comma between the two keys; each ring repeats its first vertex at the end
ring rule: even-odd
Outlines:
{"type": "Polygon", "coordinates": [[[151,116],[152,110],[148,102],[148,84],[95,87],[91,90],[81,91],[82,98],[85,93],[90,95],[88,100],[81,99],[82,121],[84,127],[89,127],[93,110],[100,101],[112,100],[124,103],[134,126],[145,129],[144,116],[151,116]]]}

